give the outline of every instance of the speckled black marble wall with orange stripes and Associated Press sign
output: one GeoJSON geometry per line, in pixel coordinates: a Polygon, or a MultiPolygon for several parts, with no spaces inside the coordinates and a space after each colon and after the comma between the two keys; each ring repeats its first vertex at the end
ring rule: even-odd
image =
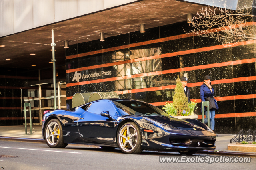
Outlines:
{"type": "MultiPolygon", "coordinates": [[[[255,130],[256,105],[251,96],[256,94],[255,54],[250,53],[250,49],[244,46],[214,49],[212,46],[221,45],[221,43],[212,38],[200,36],[172,38],[172,36],[185,34],[184,30],[188,28],[186,22],[180,22],[149,28],[146,29],[146,33],[136,31],[108,37],[104,42],[94,40],[70,45],[70,48],[66,49],[66,56],[72,57],[72,55],[82,53],[86,53],[86,56],[66,60],[66,82],[68,83],[66,89],[69,99],[67,106],[71,107],[70,97],[77,92],[118,92],[134,89],[138,91],[120,94],[120,98],[141,100],[153,105],[156,102],[164,103],[172,101],[174,95],[174,89],[164,87],[175,85],[177,75],[183,77],[186,73],[190,80],[189,83],[194,84],[202,82],[204,75],[210,75],[212,81],[218,81],[213,85],[216,97],[234,98],[244,95],[237,100],[230,98],[218,101],[220,109],[216,111],[216,132],[235,134],[241,129],[255,130]],[[163,40],[163,38],[167,39],[163,40]],[[116,48],[122,46],[124,46],[123,49],[116,48]],[[192,51],[205,47],[206,49],[201,50],[202,52],[192,51]],[[92,51],[100,52],[90,54],[92,51]],[[161,57],[158,57],[160,55],[161,57]],[[144,57],[149,58],[141,59],[144,57]],[[139,61],[132,59],[139,59],[139,61]],[[126,60],[130,62],[125,62],[126,60]],[[238,60],[243,60],[243,63],[227,64],[229,61],[238,60]],[[119,63],[115,65],[115,62],[119,63]],[[96,65],[103,66],[95,67],[96,65]],[[203,67],[204,65],[208,66],[203,67]],[[76,70],[82,67],[87,68],[83,71],[76,70]],[[74,70],[69,71],[70,69],[74,70]],[[109,71],[111,74],[102,75],[103,72],[109,71]],[[82,83],[80,85],[72,84],[78,82],[74,80],[74,75],[77,73],[81,73],[79,82],[82,83]],[[95,77],[83,76],[93,73],[101,74],[95,77]],[[142,75],[142,73],[145,74],[142,75]],[[247,81],[248,77],[251,77],[250,81],[247,81]],[[229,79],[231,83],[225,83],[226,79],[229,79]],[[86,81],[92,82],[86,83],[86,81]],[[150,91],[143,90],[149,87],[156,88],[150,91]],[[230,113],[235,116],[230,117],[228,115],[230,113]],[[243,116],[236,116],[236,113],[243,113],[243,116]]],[[[189,87],[191,98],[200,99],[200,86],[198,84],[192,86],[189,87]]],[[[162,105],[158,107],[162,108],[162,105]]],[[[198,107],[201,107],[200,103],[198,107]]],[[[199,108],[196,113],[201,115],[199,108]]]]}

